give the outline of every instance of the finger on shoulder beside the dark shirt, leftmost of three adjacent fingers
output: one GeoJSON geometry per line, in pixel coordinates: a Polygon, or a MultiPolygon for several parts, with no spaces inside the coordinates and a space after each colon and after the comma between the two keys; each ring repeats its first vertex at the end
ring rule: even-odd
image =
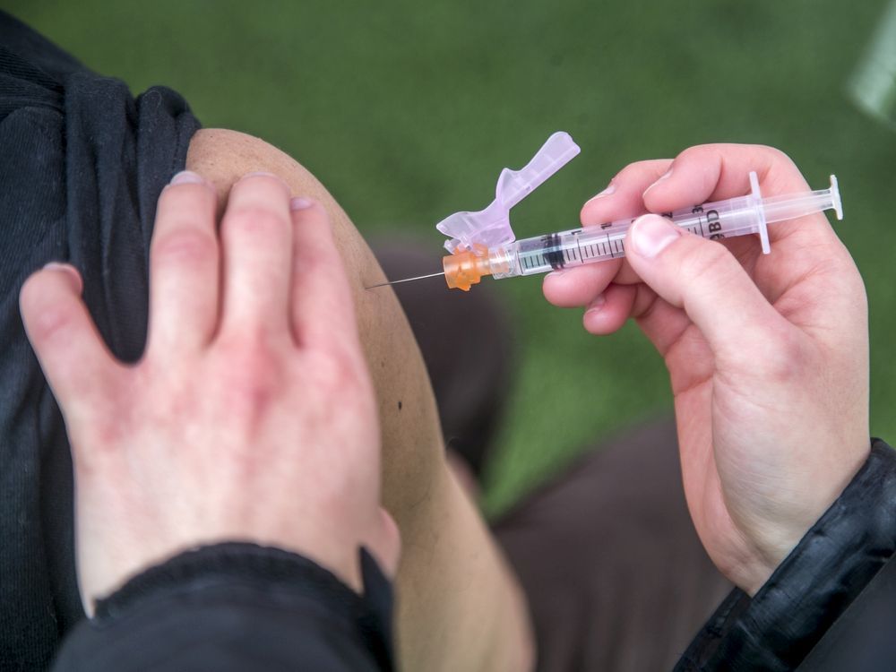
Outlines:
{"type": "Polygon", "coordinates": [[[149,349],[199,348],[218,324],[217,194],[195,173],[178,173],[159,197],[150,246],[149,349]]]}

